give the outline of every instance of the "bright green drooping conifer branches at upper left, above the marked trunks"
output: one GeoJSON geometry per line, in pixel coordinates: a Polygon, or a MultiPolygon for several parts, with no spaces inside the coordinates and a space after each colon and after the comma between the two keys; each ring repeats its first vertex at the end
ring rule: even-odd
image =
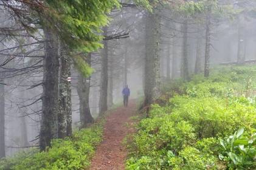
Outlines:
{"type": "MultiPolygon", "coordinates": [[[[102,47],[101,28],[108,24],[107,14],[113,7],[119,7],[117,0],[48,0],[50,19],[61,39],[71,49],[93,52],[102,47]]],[[[49,24],[45,18],[44,24],[49,24]]]]}

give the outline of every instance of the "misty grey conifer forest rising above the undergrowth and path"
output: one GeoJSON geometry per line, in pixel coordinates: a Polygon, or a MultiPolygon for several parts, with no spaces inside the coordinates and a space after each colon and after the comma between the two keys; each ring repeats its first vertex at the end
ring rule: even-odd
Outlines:
{"type": "Polygon", "coordinates": [[[88,126],[120,103],[125,84],[148,107],[161,82],[256,59],[255,2],[135,2],[100,4],[88,18],[69,1],[0,1],[0,157],[44,150],[72,126],[88,126]],[[70,5],[79,15],[66,13],[70,5]]]}

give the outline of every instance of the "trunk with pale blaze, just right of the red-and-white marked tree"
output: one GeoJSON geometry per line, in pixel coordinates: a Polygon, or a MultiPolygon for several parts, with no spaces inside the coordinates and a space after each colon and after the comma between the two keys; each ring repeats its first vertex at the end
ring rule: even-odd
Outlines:
{"type": "MultiPolygon", "coordinates": [[[[86,56],[86,62],[91,66],[91,53],[86,56]]],[[[81,73],[78,73],[77,93],[80,101],[81,127],[86,127],[88,124],[94,122],[89,107],[90,84],[90,78],[85,78],[81,73]]]]}

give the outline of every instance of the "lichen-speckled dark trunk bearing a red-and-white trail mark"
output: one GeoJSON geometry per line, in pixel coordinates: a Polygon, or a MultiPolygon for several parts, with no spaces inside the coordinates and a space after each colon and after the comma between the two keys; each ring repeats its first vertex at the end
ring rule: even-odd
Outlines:
{"type": "Polygon", "coordinates": [[[58,138],[72,135],[72,112],[71,112],[71,61],[60,42],[60,85],[59,85],[59,112],[58,112],[58,138]]]}

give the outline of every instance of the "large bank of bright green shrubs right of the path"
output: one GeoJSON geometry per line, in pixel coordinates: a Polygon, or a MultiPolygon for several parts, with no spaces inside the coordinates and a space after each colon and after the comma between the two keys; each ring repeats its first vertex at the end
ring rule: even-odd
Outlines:
{"type": "Polygon", "coordinates": [[[164,86],[128,143],[126,169],[256,169],[256,67],[164,86]]]}

